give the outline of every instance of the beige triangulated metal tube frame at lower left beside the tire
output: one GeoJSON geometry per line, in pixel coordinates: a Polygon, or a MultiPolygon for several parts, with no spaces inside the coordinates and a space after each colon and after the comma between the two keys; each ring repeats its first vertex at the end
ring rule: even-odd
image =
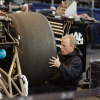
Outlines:
{"type": "Polygon", "coordinates": [[[21,96],[25,97],[24,87],[23,87],[23,80],[22,79],[19,79],[20,86],[21,86],[21,90],[22,90],[22,92],[21,92],[20,89],[18,88],[18,86],[16,85],[16,83],[14,82],[14,80],[11,78],[11,72],[12,72],[12,69],[13,69],[13,65],[14,65],[15,59],[16,59],[16,62],[17,62],[18,74],[14,78],[21,76],[22,75],[22,72],[21,72],[21,67],[20,67],[20,63],[19,63],[19,59],[18,59],[17,47],[15,47],[15,55],[14,55],[14,58],[12,60],[12,64],[11,64],[11,67],[10,67],[10,70],[9,70],[9,74],[7,74],[4,70],[2,70],[0,68],[0,72],[3,73],[8,78],[8,85],[9,85],[9,91],[10,91],[10,93],[8,92],[7,88],[4,86],[4,84],[3,84],[3,82],[2,82],[1,79],[0,79],[0,85],[1,85],[2,89],[4,90],[5,94],[8,97],[10,97],[10,98],[18,95],[18,94],[16,94],[16,95],[13,96],[11,82],[14,85],[14,87],[16,88],[16,90],[19,92],[19,94],[21,96]]]}

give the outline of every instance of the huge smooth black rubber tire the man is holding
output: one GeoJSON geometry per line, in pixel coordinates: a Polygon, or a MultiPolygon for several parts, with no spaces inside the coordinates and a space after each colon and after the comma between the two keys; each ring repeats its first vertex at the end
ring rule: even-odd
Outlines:
{"type": "Polygon", "coordinates": [[[14,38],[20,35],[18,48],[22,74],[29,86],[41,84],[48,80],[54,68],[49,68],[48,60],[56,56],[56,43],[52,28],[47,19],[39,13],[22,12],[8,14],[14,26],[11,34],[14,38]]]}

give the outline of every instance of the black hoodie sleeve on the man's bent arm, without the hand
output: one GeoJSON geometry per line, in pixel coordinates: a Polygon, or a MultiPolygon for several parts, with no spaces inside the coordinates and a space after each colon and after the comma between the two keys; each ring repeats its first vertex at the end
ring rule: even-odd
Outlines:
{"type": "Polygon", "coordinates": [[[58,68],[62,78],[65,80],[74,79],[76,78],[82,70],[82,62],[81,59],[73,58],[72,61],[67,65],[63,65],[61,63],[60,67],[58,68]]]}

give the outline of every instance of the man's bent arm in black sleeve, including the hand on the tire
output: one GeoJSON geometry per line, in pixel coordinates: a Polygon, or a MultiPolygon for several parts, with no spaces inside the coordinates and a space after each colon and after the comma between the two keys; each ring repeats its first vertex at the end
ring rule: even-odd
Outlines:
{"type": "Polygon", "coordinates": [[[50,59],[51,62],[49,62],[49,64],[52,65],[49,67],[57,67],[62,78],[65,80],[76,78],[82,70],[82,62],[80,57],[73,57],[71,62],[66,66],[60,63],[59,58],[53,57],[52,59],[50,59]]]}

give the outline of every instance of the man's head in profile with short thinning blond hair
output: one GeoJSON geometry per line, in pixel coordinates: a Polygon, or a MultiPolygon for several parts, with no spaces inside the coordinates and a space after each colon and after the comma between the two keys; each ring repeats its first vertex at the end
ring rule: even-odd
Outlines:
{"type": "Polygon", "coordinates": [[[62,38],[61,42],[61,54],[67,55],[74,51],[77,41],[76,38],[72,35],[66,35],[62,38]]]}

